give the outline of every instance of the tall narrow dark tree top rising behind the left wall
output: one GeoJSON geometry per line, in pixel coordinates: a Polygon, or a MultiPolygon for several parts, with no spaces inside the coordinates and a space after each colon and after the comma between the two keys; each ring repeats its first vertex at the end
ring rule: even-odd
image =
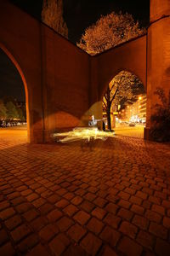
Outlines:
{"type": "Polygon", "coordinates": [[[43,0],[42,22],[52,27],[65,38],[68,38],[68,28],[63,19],[62,0],[43,0]]]}

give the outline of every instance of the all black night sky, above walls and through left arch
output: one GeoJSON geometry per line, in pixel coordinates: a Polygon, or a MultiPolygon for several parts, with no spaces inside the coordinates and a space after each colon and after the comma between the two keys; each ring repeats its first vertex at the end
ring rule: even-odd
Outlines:
{"type": "MultiPolygon", "coordinates": [[[[28,14],[41,20],[42,0],[11,0],[28,14]]],[[[122,11],[133,15],[141,26],[149,26],[150,0],[63,0],[64,19],[69,30],[69,40],[76,44],[86,27],[94,24],[101,15],[122,11]]],[[[0,50],[0,98],[13,95],[25,100],[24,85],[14,65],[0,50]]]]}

